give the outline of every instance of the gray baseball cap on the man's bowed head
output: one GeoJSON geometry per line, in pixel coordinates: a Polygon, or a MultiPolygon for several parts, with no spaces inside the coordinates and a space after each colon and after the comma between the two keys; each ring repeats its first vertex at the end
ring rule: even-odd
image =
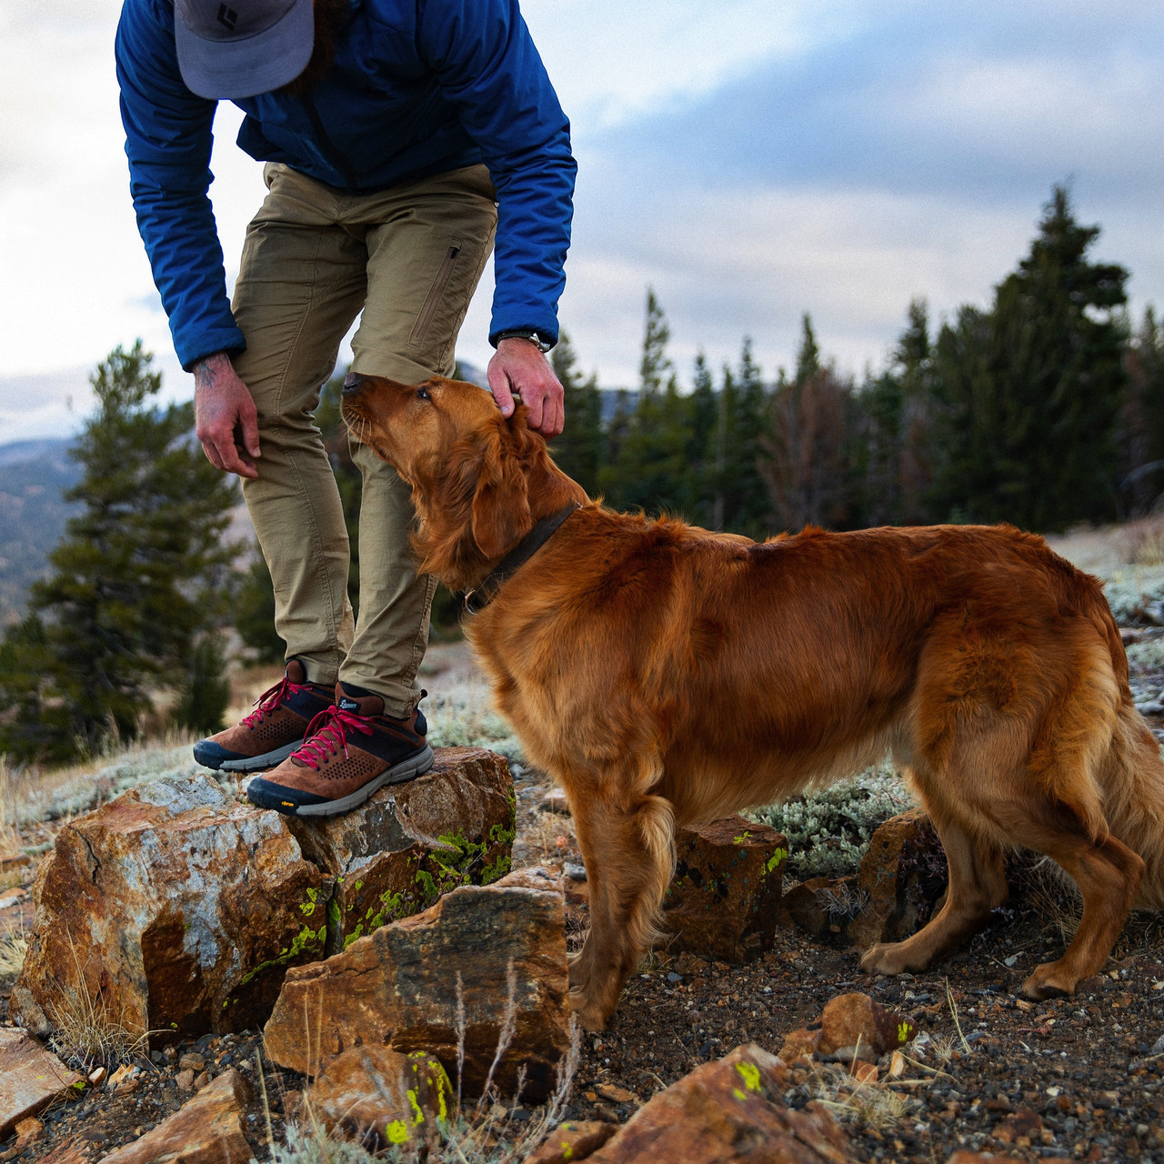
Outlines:
{"type": "Polygon", "coordinates": [[[307,66],[312,0],[175,0],[182,79],[199,97],[269,93],[307,66]]]}

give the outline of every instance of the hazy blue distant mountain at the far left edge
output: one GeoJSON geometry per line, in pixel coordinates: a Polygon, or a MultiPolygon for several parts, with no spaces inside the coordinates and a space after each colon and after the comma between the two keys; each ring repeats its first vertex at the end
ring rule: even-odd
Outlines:
{"type": "Polygon", "coordinates": [[[49,552],[61,540],[77,503],[61,495],[80,481],[68,440],[0,445],[0,623],[24,613],[28,588],[48,574],[49,552]]]}

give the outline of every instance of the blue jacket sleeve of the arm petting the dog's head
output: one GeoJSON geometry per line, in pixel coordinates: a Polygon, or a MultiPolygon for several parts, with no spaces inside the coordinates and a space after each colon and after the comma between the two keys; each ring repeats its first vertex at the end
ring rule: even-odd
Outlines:
{"type": "Polygon", "coordinates": [[[556,340],[577,166],[517,0],[418,0],[418,49],[497,191],[490,338],[535,327],[556,340]]]}

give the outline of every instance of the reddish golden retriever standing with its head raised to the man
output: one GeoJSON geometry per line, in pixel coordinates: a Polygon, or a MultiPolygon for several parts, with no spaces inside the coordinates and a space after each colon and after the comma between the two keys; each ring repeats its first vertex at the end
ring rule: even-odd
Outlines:
{"type": "Polygon", "coordinates": [[[925,970],[979,930],[1014,846],[1057,861],[1084,903],[1028,998],[1072,994],[1130,908],[1164,907],[1159,750],[1100,584],[1041,538],[949,525],[757,544],[590,501],[521,407],[503,419],[473,384],[353,376],[343,414],[412,487],[421,568],[480,588],[467,633],[498,710],[566,792],[590,887],[570,967],[584,1027],[605,1024],[655,937],[676,826],[887,753],[934,818],[950,886],[863,970],[925,970]]]}

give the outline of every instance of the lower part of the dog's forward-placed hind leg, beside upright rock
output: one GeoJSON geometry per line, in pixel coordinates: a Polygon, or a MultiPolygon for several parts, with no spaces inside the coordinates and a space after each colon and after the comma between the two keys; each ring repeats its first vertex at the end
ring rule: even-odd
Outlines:
{"type": "MultiPolygon", "coordinates": [[[[924,801],[924,796],[923,796],[924,801]]],[[[861,958],[870,974],[901,974],[925,970],[989,921],[991,910],[1007,900],[1002,850],[951,819],[943,821],[930,804],[950,868],[950,885],[942,909],[904,942],[882,942],[861,958]]]]}

